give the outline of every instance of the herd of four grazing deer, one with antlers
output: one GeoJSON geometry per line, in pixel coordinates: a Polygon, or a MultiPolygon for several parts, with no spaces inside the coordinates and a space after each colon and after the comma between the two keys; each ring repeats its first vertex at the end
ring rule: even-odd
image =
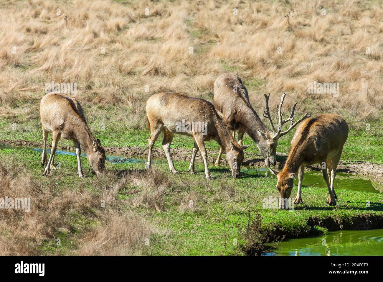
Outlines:
{"type": "MultiPolygon", "coordinates": [[[[146,116],[149,137],[149,155],[146,169],[151,167],[152,148],[161,132],[164,134],[162,147],[164,148],[170,171],[177,174],[170,155],[170,144],[175,133],[189,135],[194,139],[193,154],[189,171],[195,173],[194,162],[198,150],[201,151],[205,163],[205,177],[211,180],[205,141],[214,139],[221,146],[216,164],[220,163],[223,152],[235,178],[240,177],[241,163],[244,159],[243,150],[250,145],[242,145],[244,133],[247,133],[257,144],[267,167],[277,176],[277,188],[281,199],[290,198],[293,180],[298,175],[298,193],[295,204],[302,202],[301,189],[304,167],[314,163],[321,163],[323,178],[327,183],[329,196],[327,203],[336,205],[334,179],[336,168],[342,153],[342,148],[347,140],[348,125],[339,115],[322,114],[311,117],[305,114],[294,122],[294,105],[290,117],[283,120],[282,104],[286,93],[283,93],[278,106],[277,127],[274,126],[268,107],[268,95],[265,94],[265,109],[263,116],[270,121],[273,131],[259,118],[249,102],[246,87],[241,78],[236,74],[226,73],[219,76],[214,82],[213,104],[204,99],[189,97],[181,93],[162,92],[151,96],[146,104],[146,116]],[[207,129],[204,132],[191,127],[187,130],[177,130],[179,122],[203,122],[207,129]],[[290,127],[282,131],[285,123],[290,122],[290,127]],[[288,154],[285,166],[281,172],[270,165],[276,164],[278,139],[290,132],[296,125],[291,141],[291,151],[288,154]],[[232,130],[232,134],[230,132],[232,130]],[[238,132],[238,142],[234,139],[238,132]],[[298,171],[298,174],[296,173],[298,171]]],[[[90,131],[79,102],[64,94],[49,93],[43,97],[40,105],[41,125],[43,127],[44,149],[41,166],[46,165],[43,175],[48,175],[54,167],[54,153],[59,139],[73,140],[77,155],[77,175],[83,177],[81,168],[81,147],[85,150],[88,160],[97,175],[105,169],[105,150],[100,140],[96,140],[90,131]],[[52,134],[52,149],[47,161],[46,140],[48,132],[52,134]]],[[[281,206],[287,208],[287,206],[281,206]]]]}

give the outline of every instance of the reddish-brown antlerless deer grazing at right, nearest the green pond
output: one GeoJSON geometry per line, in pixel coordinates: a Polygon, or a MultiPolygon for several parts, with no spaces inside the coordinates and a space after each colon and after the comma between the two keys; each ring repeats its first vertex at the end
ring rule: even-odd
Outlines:
{"type": "Polygon", "coordinates": [[[282,172],[270,168],[278,178],[279,196],[280,199],[284,200],[280,200],[280,208],[284,207],[285,199],[290,198],[291,189],[294,185],[293,179],[296,177],[298,169],[298,193],[294,203],[303,203],[302,180],[304,167],[314,163],[321,163],[322,165],[323,178],[329,190],[327,203],[336,205],[335,199],[337,196],[334,190],[334,179],[343,145],[348,135],[349,126],[344,119],[336,114],[318,115],[300,124],[293,140],[291,140],[291,150],[282,172]]]}

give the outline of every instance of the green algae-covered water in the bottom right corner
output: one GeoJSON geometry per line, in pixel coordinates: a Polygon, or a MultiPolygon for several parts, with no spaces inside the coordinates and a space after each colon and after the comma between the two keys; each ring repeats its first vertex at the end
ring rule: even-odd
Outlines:
{"type": "Polygon", "coordinates": [[[318,237],[284,239],[264,256],[382,256],[383,229],[332,231],[318,237]]]}

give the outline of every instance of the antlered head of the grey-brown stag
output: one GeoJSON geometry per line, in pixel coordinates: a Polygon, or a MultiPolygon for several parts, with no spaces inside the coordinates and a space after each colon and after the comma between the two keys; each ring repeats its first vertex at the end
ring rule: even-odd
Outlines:
{"type": "Polygon", "coordinates": [[[263,114],[264,114],[264,117],[266,117],[270,121],[270,125],[273,129],[273,132],[269,130],[267,132],[257,130],[259,135],[259,142],[257,143],[257,145],[268,167],[270,167],[270,164],[275,165],[275,163],[277,163],[275,156],[277,155],[278,139],[282,137],[283,135],[288,134],[290,130],[293,129],[302,120],[307,119],[308,117],[311,117],[311,114],[306,113],[300,120],[297,120],[294,123],[294,113],[295,113],[295,107],[296,107],[296,103],[295,103],[293,110],[291,111],[290,117],[286,120],[283,120],[282,104],[286,96],[286,92],[285,92],[282,94],[281,102],[278,107],[279,125],[277,127],[278,129],[276,130],[273,124],[273,120],[271,119],[270,110],[268,107],[268,99],[270,98],[270,94],[271,92],[268,95],[265,94],[266,105],[265,105],[263,114]],[[290,127],[287,130],[282,131],[283,125],[289,121],[291,122],[290,127]]]}

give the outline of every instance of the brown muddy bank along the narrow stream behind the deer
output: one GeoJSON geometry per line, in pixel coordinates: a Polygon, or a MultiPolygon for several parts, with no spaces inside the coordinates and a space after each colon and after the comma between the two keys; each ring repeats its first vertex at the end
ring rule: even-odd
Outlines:
{"type": "MultiPolygon", "coordinates": [[[[43,144],[35,141],[26,141],[26,140],[0,140],[0,142],[5,143],[10,146],[25,146],[25,147],[43,147],[43,144]]],[[[50,147],[50,145],[48,146],[50,147]]],[[[59,150],[74,151],[73,146],[58,146],[59,150]]],[[[148,154],[147,147],[133,146],[133,147],[105,147],[106,153],[108,155],[124,155],[130,157],[143,157],[146,158],[148,154]]],[[[190,161],[191,159],[191,148],[171,148],[172,158],[174,160],[183,160],[190,161]]],[[[208,151],[208,162],[214,163],[218,151],[208,151]]],[[[275,167],[279,169],[283,168],[283,165],[286,161],[287,154],[277,153],[277,164],[275,167]]],[[[164,150],[162,148],[153,148],[152,151],[153,158],[166,158],[164,150]]],[[[196,162],[203,162],[201,154],[198,152],[196,156],[196,162]]],[[[222,164],[227,164],[226,158],[223,155],[221,159],[222,164]]],[[[259,154],[246,153],[245,159],[243,161],[244,165],[250,165],[254,167],[265,167],[265,161],[259,154]]],[[[320,170],[319,165],[310,166],[309,169],[320,170]]],[[[374,181],[383,183],[383,165],[376,163],[363,162],[363,161],[340,161],[338,165],[337,172],[353,173],[355,175],[366,175],[373,178],[374,181]]]]}

